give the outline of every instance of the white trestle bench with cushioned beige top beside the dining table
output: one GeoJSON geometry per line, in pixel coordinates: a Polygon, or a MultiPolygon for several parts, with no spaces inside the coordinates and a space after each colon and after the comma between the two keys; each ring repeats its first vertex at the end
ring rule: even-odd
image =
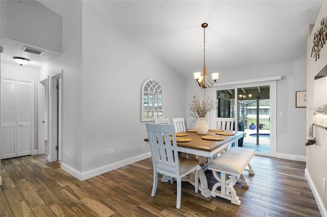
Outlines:
{"type": "Polygon", "coordinates": [[[217,183],[213,186],[211,193],[212,197],[222,197],[230,200],[232,204],[240,205],[241,201],[236,195],[234,185],[236,182],[242,186],[249,186],[243,172],[248,171],[254,175],[250,161],[254,156],[255,151],[250,148],[231,147],[226,152],[223,152],[219,157],[208,164],[208,170],[213,171],[217,183]],[[220,173],[220,175],[219,175],[220,173]],[[217,190],[218,187],[220,191],[217,190]]]}

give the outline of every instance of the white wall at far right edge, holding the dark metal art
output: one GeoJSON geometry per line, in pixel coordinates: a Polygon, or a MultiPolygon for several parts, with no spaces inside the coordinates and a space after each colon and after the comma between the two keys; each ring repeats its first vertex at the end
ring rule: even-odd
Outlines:
{"type": "MultiPolygon", "coordinates": [[[[326,19],[326,15],[327,2],[323,1],[312,33],[310,35],[310,31],[308,31],[307,36],[307,129],[309,124],[313,122],[313,115],[317,110],[314,102],[314,77],[327,65],[326,44],[321,48],[320,58],[317,61],[311,57],[314,33],[320,28],[320,21],[323,17],[326,19]]],[[[327,216],[327,192],[322,187],[323,178],[327,179],[327,130],[315,128],[314,132],[317,132],[317,134],[314,134],[316,136],[316,144],[307,147],[306,176],[322,216],[327,216]]]]}

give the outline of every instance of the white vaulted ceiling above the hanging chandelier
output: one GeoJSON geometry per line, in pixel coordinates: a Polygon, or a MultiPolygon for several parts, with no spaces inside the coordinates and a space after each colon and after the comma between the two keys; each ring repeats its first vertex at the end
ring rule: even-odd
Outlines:
{"type": "MultiPolygon", "coordinates": [[[[46,1],[40,2],[46,6],[46,1]]],[[[203,22],[208,23],[205,32],[208,73],[305,60],[308,26],[315,22],[322,2],[90,1],[88,4],[153,55],[189,77],[203,66],[203,22]]]]}

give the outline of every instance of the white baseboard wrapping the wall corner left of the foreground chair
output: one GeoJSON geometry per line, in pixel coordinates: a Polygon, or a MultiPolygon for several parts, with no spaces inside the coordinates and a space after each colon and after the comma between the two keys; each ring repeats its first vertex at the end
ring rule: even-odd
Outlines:
{"type": "Polygon", "coordinates": [[[140,161],[140,160],[144,160],[148,157],[151,157],[151,152],[145,153],[145,154],[141,154],[135,157],[131,157],[128,159],[124,159],[118,162],[114,162],[113,164],[109,164],[103,167],[99,167],[93,170],[89,170],[86,172],[81,173],[80,171],[75,170],[74,168],[66,165],[64,162],[61,163],[61,169],[63,169],[64,171],[66,171],[67,173],[71,174],[72,176],[74,176],[75,178],[83,181],[85,179],[88,178],[92,178],[94,176],[109,172],[111,170],[115,170],[130,164],[133,164],[134,162],[140,161]]]}

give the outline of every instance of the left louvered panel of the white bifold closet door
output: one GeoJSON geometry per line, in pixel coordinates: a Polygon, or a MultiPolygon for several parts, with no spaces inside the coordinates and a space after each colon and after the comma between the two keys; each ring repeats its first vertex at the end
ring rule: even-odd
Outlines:
{"type": "Polygon", "coordinates": [[[1,159],[5,159],[16,156],[17,82],[1,81],[1,159]]]}

